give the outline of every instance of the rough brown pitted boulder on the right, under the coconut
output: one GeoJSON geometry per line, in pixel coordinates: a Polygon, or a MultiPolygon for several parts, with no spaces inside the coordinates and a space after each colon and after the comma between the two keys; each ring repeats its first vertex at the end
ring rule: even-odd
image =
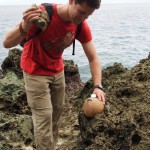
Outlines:
{"type": "MultiPolygon", "coordinates": [[[[89,93],[91,86],[86,85],[89,93]]],[[[103,85],[107,94],[104,112],[93,118],[82,111],[78,115],[84,148],[150,149],[150,56],[131,70],[118,63],[107,67],[103,85]]],[[[81,93],[80,106],[87,93],[81,93]]]]}

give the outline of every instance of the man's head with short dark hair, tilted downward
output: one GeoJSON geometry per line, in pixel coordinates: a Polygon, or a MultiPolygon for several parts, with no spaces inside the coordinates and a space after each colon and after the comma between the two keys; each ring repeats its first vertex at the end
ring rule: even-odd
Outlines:
{"type": "Polygon", "coordinates": [[[95,9],[100,7],[101,0],[69,0],[69,17],[74,24],[87,19],[95,9]]]}

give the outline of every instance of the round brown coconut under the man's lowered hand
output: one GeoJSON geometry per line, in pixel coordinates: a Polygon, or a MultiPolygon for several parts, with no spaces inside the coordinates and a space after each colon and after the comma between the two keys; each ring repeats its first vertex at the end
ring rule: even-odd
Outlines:
{"type": "Polygon", "coordinates": [[[104,104],[95,97],[90,97],[84,101],[83,112],[87,117],[94,117],[104,110],[104,104]]]}

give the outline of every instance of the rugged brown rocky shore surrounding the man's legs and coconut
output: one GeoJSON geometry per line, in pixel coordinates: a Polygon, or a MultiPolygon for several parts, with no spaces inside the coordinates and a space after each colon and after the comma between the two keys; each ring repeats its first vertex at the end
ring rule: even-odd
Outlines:
{"type": "MultiPolygon", "coordinates": [[[[21,50],[11,49],[1,66],[0,150],[35,149],[20,55],[21,50]]],[[[66,100],[58,150],[149,150],[150,56],[131,70],[114,63],[102,73],[107,103],[101,114],[87,118],[82,106],[93,81],[82,83],[78,66],[65,61],[66,100]]]]}

